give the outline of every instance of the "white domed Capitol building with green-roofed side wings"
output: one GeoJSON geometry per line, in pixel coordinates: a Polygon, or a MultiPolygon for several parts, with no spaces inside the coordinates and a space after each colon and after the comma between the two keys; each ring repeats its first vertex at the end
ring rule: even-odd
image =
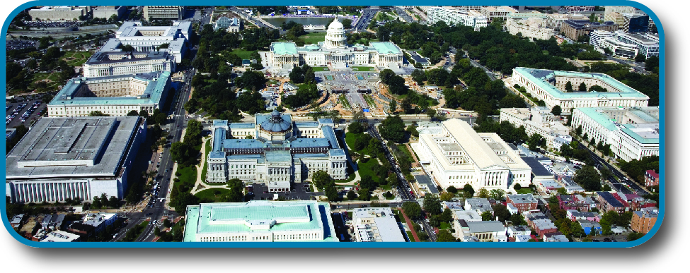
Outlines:
{"type": "Polygon", "coordinates": [[[343,23],[334,20],[328,25],[325,40],[318,44],[297,47],[294,42],[273,42],[270,46],[270,66],[401,66],[403,52],[392,42],[370,42],[348,45],[343,23]]]}

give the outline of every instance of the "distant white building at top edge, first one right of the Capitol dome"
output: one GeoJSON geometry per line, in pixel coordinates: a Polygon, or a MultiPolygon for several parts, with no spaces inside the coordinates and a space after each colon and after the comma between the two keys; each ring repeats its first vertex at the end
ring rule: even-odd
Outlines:
{"type": "MultiPolygon", "coordinates": [[[[481,11],[481,8],[480,8],[481,11]]],[[[479,30],[488,25],[488,18],[480,11],[452,6],[434,6],[427,10],[427,21],[430,25],[444,22],[447,25],[466,25],[479,30]]]]}

